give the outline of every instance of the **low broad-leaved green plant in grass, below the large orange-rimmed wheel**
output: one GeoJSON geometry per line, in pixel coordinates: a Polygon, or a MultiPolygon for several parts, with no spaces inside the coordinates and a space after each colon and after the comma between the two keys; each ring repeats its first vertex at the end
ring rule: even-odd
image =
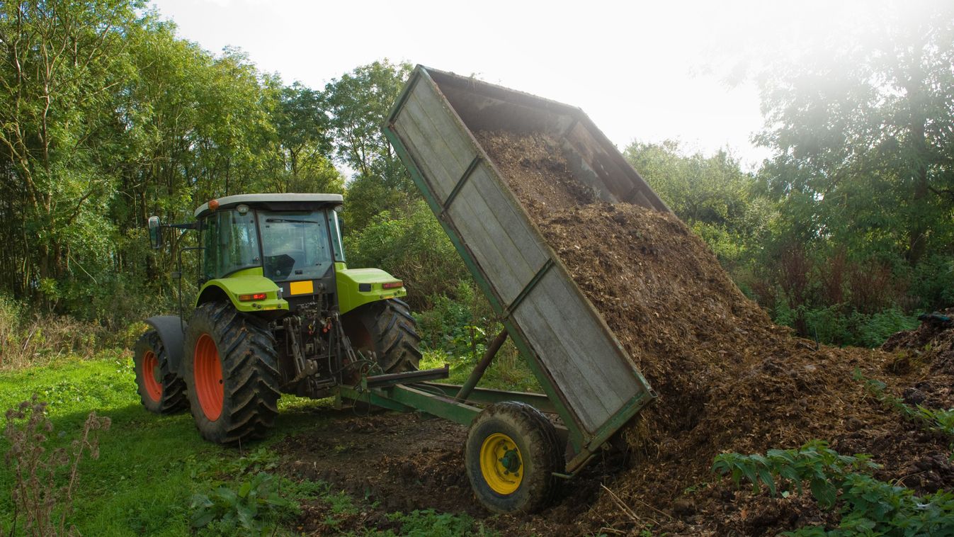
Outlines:
{"type": "Polygon", "coordinates": [[[238,489],[222,485],[208,494],[195,494],[190,507],[193,527],[233,534],[239,529],[260,533],[269,521],[295,511],[297,506],[280,495],[274,476],[259,472],[242,481],[238,489]]]}

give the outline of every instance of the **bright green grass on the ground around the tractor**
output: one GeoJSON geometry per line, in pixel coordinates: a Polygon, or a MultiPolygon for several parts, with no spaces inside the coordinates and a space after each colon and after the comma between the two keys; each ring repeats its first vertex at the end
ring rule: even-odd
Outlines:
{"type": "MultiPolygon", "coordinates": [[[[240,449],[221,447],[199,437],[188,412],[156,416],[146,412],[135,392],[131,356],[104,352],[93,360],[61,359],[52,363],[0,372],[0,411],[29,401],[33,394],[49,403],[53,424],[48,448],[66,446],[81,432],[91,411],[108,416],[113,425],[100,436],[98,460],[84,459],[73,495],[73,524],[84,535],[187,535],[192,532],[194,497],[219,487],[240,490],[260,471],[279,465],[271,445],[305,428],[320,427],[321,413],[330,402],[284,396],[280,417],[268,440],[240,449]]],[[[0,438],[0,452],[10,444],[0,438]]],[[[9,534],[13,506],[13,474],[0,465],[0,533],[9,534]]],[[[246,487],[247,488],[247,487],[246,487]]],[[[346,516],[356,502],[321,483],[292,483],[281,478],[282,493],[298,503],[323,502],[334,508],[329,516],[346,516]],[[337,506],[337,507],[336,507],[337,506]],[[349,507],[351,506],[351,507],[349,507]]],[[[363,507],[366,508],[366,507],[363,507]]],[[[295,509],[292,509],[294,511],[295,509]]],[[[290,518],[273,517],[278,534],[294,534],[290,518]]],[[[390,513],[401,533],[393,529],[357,530],[361,535],[464,535],[481,531],[466,516],[433,511],[390,513]]],[[[215,525],[213,525],[215,527],[215,525]]],[[[268,533],[271,533],[269,527],[268,533]]],[[[227,534],[226,530],[203,530],[227,534]]],[[[347,532],[345,532],[347,534],[347,532]]]]}

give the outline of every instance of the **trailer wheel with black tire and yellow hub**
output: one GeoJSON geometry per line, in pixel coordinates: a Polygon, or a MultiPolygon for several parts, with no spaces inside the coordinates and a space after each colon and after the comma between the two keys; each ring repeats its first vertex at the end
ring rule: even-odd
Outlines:
{"type": "Polygon", "coordinates": [[[464,460],[470,486],[487,509],[532,513],[550,504],[553,472],[565,467],[562,453],[546,416],[529,404],[506,402],[487,406],[470,424],[464,460]]]}

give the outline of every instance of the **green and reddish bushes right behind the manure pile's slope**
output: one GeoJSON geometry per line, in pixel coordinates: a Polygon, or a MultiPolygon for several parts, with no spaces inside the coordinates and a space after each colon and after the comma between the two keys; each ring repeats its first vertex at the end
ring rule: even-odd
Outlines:
{"type": "MultiPolygon", "coordinates": [[[[634,142],[625,151],[633,167],[695,233],[703,238],[739,287],[780,324],[825,343],[876,347],[917,325],[902,304],[917,297],[943,300],[950,278],[946,257],[896,268],[853,258],[840,249],[806,250],[786,238],[784,213],[760,179],[741,171],[731,155],[682,155],[677,142],[634,142]],[[910,281],[910,284],[906,284],[910,281]]],[[[867,254],[861,254],[867,255],[867,254]]]]}

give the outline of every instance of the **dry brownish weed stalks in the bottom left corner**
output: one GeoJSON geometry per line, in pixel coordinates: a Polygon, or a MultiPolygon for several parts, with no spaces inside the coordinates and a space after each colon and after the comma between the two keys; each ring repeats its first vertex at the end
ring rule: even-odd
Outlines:
{"type": "Polygon", "coordinates": [[[78,440],[70,449],[58,447],[48,451],[44,446],[53,424],[46,416],[47,403],[37,396],[24,401],[6,413],[4,436],[10,448],[4,463],[13,472],[10,491],[13,513],[10,533],[23,519],[23,531],[30,535],[67,535],[75,527],[67,527],[66,519],[73,509],[73,491],[83,454],[99,458],[99,431],[108,430],[109,418],[91,412],[78,440]],[[66,485],[58,485],[58,474],[66,470],[66,485]],[[58,517],[56,516],[58,513],[58,517]],[[58,519],[58,520],[57,520],[58,519]]]}

